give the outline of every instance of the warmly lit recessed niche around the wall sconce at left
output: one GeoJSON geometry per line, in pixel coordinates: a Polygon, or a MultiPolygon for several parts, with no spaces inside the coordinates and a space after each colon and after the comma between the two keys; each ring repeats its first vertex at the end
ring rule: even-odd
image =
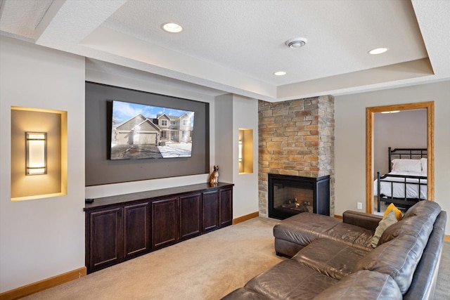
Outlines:
{"type": "Polygon", "coordinates": [[[67,112],[11,107],[11,201],[67,195],[67,112]],[[46,174],[26,175],[25,133],[46,133],[46,174]]]}

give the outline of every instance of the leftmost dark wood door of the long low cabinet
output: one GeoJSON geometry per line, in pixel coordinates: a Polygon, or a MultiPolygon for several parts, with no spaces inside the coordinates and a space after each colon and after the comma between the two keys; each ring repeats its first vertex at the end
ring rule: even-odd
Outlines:
{"type": "Polygon", "coordinates": [[[119,263],[123,259],[122,208],[94,211],[89,219],[90,271],[119,263]]]}

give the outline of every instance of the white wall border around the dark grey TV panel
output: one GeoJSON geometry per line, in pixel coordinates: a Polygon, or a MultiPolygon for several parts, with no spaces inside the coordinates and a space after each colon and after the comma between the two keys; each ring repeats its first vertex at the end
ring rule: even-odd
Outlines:
{"type": "MultiPolygon", "coordinates": [[[[151,76],[146,77],[143,72],[134,72],[131,69],[127,69],[125,72],[122,68],[108,68],[108,72],[105,72],[102,70],[102,67],[96,67],[95,63],[88,62],[86,64],[86,81],[210,103],[210,169],[212,169],[215,155],[215,127],[214,122],[212,122],[212,120],[214,120],[214,96],[174,87],[169,81],[161,81],[159,78],[151,76]]],[[[104,67],[105,65],[103,64],[102,66],[104,67]]],[[[158,190],[160,188],[170,188],[179,185],[205,183],[208,181],[208,178],[208,174],[198,174],[192,176],[89,186],[86,187],[86,198],[107,197],[111,195],[136,193],[144,190],[158,190]]]]}

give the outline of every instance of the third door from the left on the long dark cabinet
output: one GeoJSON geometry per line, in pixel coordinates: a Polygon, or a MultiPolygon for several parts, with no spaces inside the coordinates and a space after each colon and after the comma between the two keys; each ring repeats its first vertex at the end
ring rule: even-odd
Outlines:
{"type": "Polygon", "coordinates": [[[174,244],[178,238],[178,198],[153,201],[152,209],[152,249],[174,244]]]}

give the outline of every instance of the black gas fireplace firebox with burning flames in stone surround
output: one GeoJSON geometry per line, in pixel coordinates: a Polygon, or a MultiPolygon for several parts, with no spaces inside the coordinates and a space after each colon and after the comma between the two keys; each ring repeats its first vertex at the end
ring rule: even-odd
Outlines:
{"type": "Polygon", "coordinates": [[[330,176],[269,174],[269,217],[286,219],[301,212],[330,215],[330,176]]]}

